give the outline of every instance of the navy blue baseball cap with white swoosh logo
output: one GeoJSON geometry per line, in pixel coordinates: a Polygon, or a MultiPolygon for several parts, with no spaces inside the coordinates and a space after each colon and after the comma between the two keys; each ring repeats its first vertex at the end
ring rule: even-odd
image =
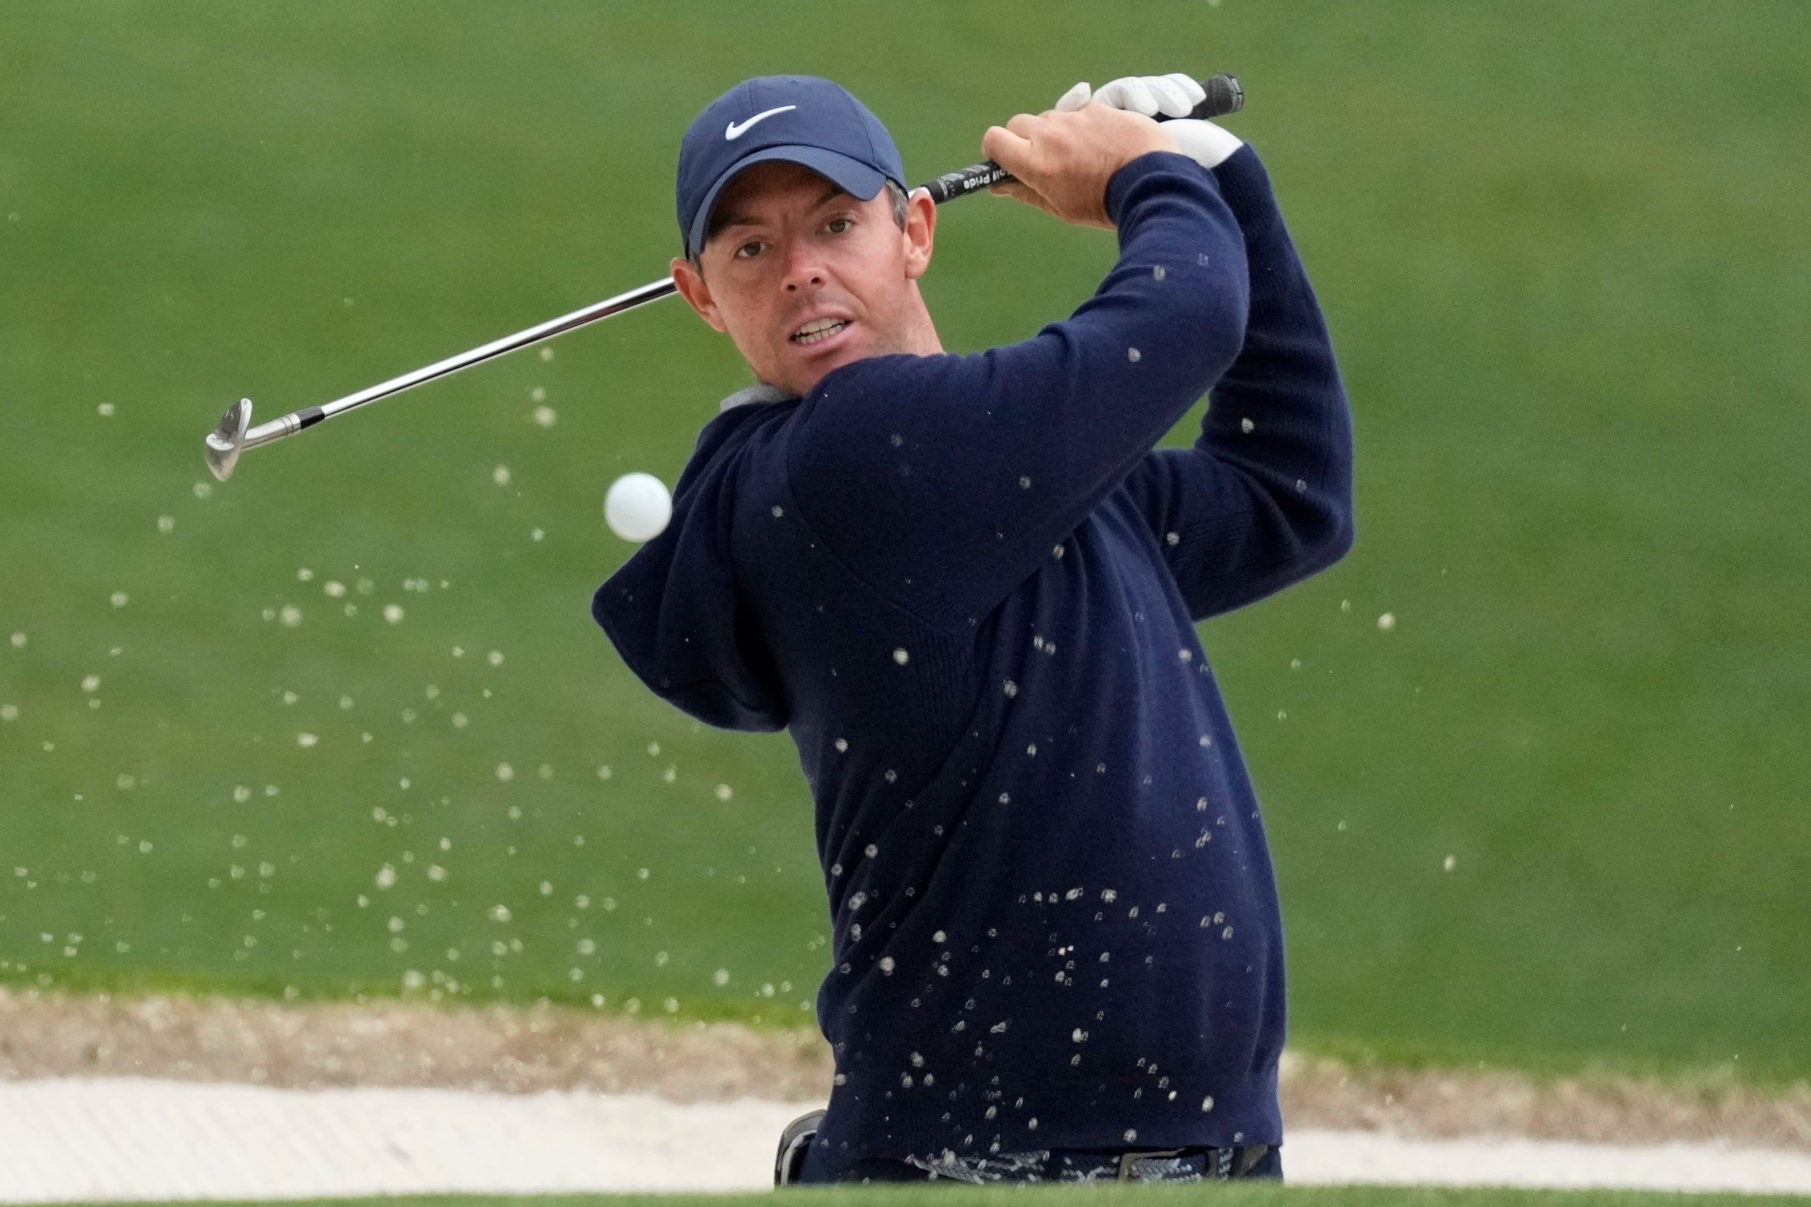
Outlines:
{"type": "Polygon", "coordinates": [[[724,185],[771,159],[804,165],[858,201],[869,201],[886,179],[906,186],[893,136],[840,83],[819,76],[743,80],[692,119],[679,145],[679,233],[688,253],[703,250],[724,185]]]}

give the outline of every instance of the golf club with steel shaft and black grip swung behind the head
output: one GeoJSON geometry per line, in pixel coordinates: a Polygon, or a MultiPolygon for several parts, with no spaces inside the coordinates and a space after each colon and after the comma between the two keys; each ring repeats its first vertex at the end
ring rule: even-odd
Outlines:
{"type": "MultiPolygon", "coordinates": [[[[1221,118],[1224,114],[1239,112],[1239,109],[1244,107],[1244,90],[1233,76],[1212,76],[1203,80],[1201,87],[1206,89],[1208,96],[1195,105],[1193,112],[1188,114],[1190,118],[1221,118]]],[[[1157,119],[1168,121],[1168,118],[1161,116],[1157,119]]],[[[931,201],[942,204],[1011,179],[1012,176],[1007,174],[1005,168],[989,159],[958,172],[947,172],[920,188],[931,194],[931,201]]],[[[458,373],[460,369],[469,369],[471,366],[491,360],[493,356],[513,353],[518,347],[527,347],[529,344],[540,344],[541,340],[552,338],[563,331],[583,328],[589,322],[598,322],[599,318],[608,318],[610,315],[621,315],[625,309],[634,309],[636,306],[663,299],[674,291],[674,279],[661,277],[659,280],[648,282],[639,290],[630,290],[628,293],[618,293],[616,297],[608,297],[601,302],[592,302],[583,309],[574,309],[569,315],[549,318],[547,322],[532,326],[525,331],[505,335],[500,340],[491,340],[489,344],[482,344],[456,356],[436,360],[431,366],[415,369],[413,373],[404,373],[402,376],[393,376],[388,382],[368,385],[355,394],[346,394],[344,398],[337,398],[324,405],[292,411],[290,414],[270,420],[268,423],[259,423],[257,427],[252,427],[252,400],[241,398],[226,407],[226,414],[221,416],[219,425],[206,436],[208,469],[214,470],[217,480],[226,481],[232,476],[234,467],[239,463],[239,454],[246,449],[257,449],[283,440],[284,436],[293,436],[295,432],[313,427],[322,420],[344,414],[353,407],[362,407],[368,402],[400,394],[402,391],[420,385],[422,382],[433,382],[435,378],[458,373]]]]}

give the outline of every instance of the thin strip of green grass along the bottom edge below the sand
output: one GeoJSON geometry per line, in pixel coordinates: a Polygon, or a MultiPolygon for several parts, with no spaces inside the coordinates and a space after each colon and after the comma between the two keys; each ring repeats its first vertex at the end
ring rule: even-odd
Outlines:
{"type": "MultiPolygon", "coordinates": [[[[808,1198],[824,1207],[886,1207],[936,1203],[965,1207],[998,1203],[1021,1194],[1061,1198],[1065,1207],[1121,1207],[1125,1203],[1213,1203],[1215,1207],[1766,1207],[1804,1203],[1784,1194],[1677,1194],[1672,1191],[1510,1191],[1501,1187],[1282,1187],[1282,1185],[1065,1185],[1065,1187],[810,1187],[784,1198],[808,1198]]],[[[293,1207],[733,1207],[771,1203],[771,1194],[395,1194],[384,1198],[295,1200],[293,1207]]]]}

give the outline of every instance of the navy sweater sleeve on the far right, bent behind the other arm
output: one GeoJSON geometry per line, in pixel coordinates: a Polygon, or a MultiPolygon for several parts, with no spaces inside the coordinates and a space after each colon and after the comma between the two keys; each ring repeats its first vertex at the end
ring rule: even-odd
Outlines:
{"type": "Polygon", "coordinates": [[[1353,545],[1353,431],[1327,324],[1244,147],[1213,170],[1244,237],[1244,347],[1208,396],[1192,449],[1157,449],[1126,490],[1193,619],[1298,583],[1353,545]]]}

